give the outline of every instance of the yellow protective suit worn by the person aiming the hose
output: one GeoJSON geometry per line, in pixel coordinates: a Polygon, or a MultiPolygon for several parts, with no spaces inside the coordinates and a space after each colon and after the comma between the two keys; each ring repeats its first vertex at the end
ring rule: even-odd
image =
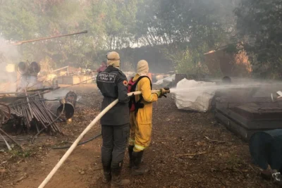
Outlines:
{"type": "MultiPolygon", "coordinates": [[[[144,62],[143,62],[144,63],[144,62]]],[[[147,61],[145,62],[146,65],[147,61]]],[[[139,65],[139,63],[138,63],[139,65]]],[[[137,70],[138,70],[137,65],[137,70]]],[[[149,68],[148,68],[149,69],[149,68]]],[[[140,68],[139,68],[140,70],[140,68]]],[[[133,82],[144,75],[145,73],[138,73],[133,78],[133,82]]],[[[153,116],[153,104],[152,102],[158,100],[157,94],[151,94],[150,80],[147,77],[143,77],[136,87],[136,91],[142,92],[142,104],[144,108],[139,108],[137,115],[135,112],[130,112],[130,146],[134,146],[133,151],[143,151],[147,148],[151,142],[152,137],[152,116],[153,116]]],[[[135,101],[139,101],[140,96],[135,96],[135,101]]]]}

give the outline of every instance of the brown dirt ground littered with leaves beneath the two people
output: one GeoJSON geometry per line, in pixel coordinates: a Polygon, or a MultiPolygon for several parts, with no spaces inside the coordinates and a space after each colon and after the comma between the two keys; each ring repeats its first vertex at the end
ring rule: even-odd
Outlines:
{"type": "MultiPolygon", "coordinates": [[[[71,123],[59,124],[65,135],[46,136],[25,152],[0,152],[0,187],[38,187],[69,145],[99,114],[102,96],[94,84],[70,87],[82,96],[71,123]]],[[[132,177],[125,154],[123,177],[130,187],[275,187],[252,165],[247,143],[216,123],[212,113],[179,111],[171,97],[154,104],[152,145],[145,151],[147,175],[132,177]]],[[[95,125],[86,140],[100,132],[95,125]]],[[[102,184],[102,138],[78,146],[54,175],[47,188],[110,187],[102,184]]]]}

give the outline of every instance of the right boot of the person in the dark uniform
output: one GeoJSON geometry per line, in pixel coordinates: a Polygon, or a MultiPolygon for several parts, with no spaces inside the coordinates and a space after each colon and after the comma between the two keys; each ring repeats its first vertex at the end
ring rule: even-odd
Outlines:
{"type": "Polygon", "coordinates": [[[130,180],[121,180],[121,169],[123,162],[117,167],[111,168],[111,188],[123,188],[130,184],[130,180]]]}

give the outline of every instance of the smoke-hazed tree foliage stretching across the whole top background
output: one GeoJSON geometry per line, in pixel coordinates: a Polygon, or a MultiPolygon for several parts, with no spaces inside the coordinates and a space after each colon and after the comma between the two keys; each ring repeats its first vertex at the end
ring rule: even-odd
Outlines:
{"type": "MultiPolygon", "coordinates": [[[[0,1],[0,37],[20,41],[88,30],[87,35],[18,46],[21,60],[47,61],[53,68],[95,68],[106,52],[116,50],[121,53],[124,70],[135,69],[137,61],[145,58],[154,64],[154,72],[175,65],[181,73],[197,74],[207,73],[203,54],[229,44],[235,32],[240,31],[248,43],[254,41],[249,54],[257,72],[278,72],[282,37],[281,19],[277,18],[281,16],[281,2],[243,0],[235,11],[235,27],[233,9],[239,1],[0,1]],[[135,46],[147,47],[135,50],[135,46]]],[[[232,53],[233,47],[226,50],[232,53]]]]}

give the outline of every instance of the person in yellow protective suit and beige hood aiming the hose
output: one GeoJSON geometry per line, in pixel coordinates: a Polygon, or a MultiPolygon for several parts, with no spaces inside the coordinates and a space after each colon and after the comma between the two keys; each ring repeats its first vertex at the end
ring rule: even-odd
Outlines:
{"type": "MultiPolygon", "coordinates": [[[[149,65],[147,61],[142,60],[137,63],[137,74],[133,78],[133,82],[140,76],[147,76],[149,73],[149,65]]],[[[151,93],[151,81],[148,77],[142,77],[137,82],[136,91],[142,92],[143,108],[139,108],[137,113],[130,112],[130,139],[128,146],[128,154],[130,157],[130,168],[132,175],[143,175],[149,170],[140,166],[144,149],[146,149],[152,136],[152,113],[153,102],[162,96],[161,92],[157,94],[151,93]]],[[[140,96],[135,96],[135,101],[139,101],[140,96]]]]}

